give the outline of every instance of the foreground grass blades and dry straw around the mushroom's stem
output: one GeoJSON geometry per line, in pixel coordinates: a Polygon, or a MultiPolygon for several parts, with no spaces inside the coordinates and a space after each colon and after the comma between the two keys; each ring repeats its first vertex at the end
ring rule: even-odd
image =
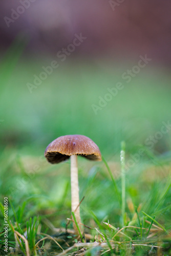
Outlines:
{"type": "MultiPolygon", "coordinates": [[[[5,155],[3,152],[4,160],[5,155]]],[[[26,160],[21,157],[19,161],[24,165],[26,160]]],[[[168,163],[161,158],[160,161],[163,162],[160,168],[164,170],[168,163]]],[[[66,231],[67,218],[71,216],[69,163],[53,166],[46,160],[41,161],[41,171],[35,172],[31,179],[27,176],[27,169],[23,173],[17,171],[16,162],[16,159],[5,162],[2,167],[8,172],[8,177],[1,174],[1,180],[4,180],[2,199],[4,196],[9,198],[9,247],[14,255],[22,255],[22,251],[27,255],[24,238],[28,241],[29,255],[67,255],[74,252],[81,255],[170,254],[171,195],[169,177],[164,172],[148,181],[151,173],[146,172],[147,163],[141,163],[143,170],[137,173],[130,170],[125,174],[125,182],[120,173],[115,179],[122,198],[120,206],[106,163],[91,163],[79,157],[80,197],[85,196],[80,208],[85,233],[78,243],[72,231],[72,221],[66,231]],[[87,163],[89,171],[85,173],[87,163]],[[28,183],[23,188],[22,182],[26,182],[26,177],[28,183]],[[18,180],[20,187],[15,187],[10,193],[11,184],[16,185],[18,180]]],[[[35,166],[35,158],[30,164],[35,166]]],[[[151,165],[150,161],[148,165],[151,165]]],[[[158,165],[150,168],[157,171],[158,165]]],[[[115,169],[110,169],[110,172],[114,177],[115,169]]],[[[3,204],[1,211],[3,223],[3,204]]],[[[2,255],[3,241],[4,233],[1,233],[2,255]]]]}

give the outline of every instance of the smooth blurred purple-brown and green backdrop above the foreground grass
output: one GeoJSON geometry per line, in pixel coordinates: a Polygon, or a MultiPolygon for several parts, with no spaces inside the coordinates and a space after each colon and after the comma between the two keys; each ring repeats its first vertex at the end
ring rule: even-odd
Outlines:
{"type": "MultiPolygon", "coordinates": [[[[113,156],[121,140],[129,151],[169,120],[169,1],[3,0],[0,7],[2,148],[43,154],[58,136],[83,134],[113,156]],[[75,34],[83,39],[71,46],[75,34]],[[127,82],[122,75],[140,55],[151,60],[127,82]],[[54,60],[58,67],[40,74],[54,60]],[[124,89],[99,108],[117,82],[124,89]]],[[[169,135],[153,150],[168,152],[169,135]]]]}

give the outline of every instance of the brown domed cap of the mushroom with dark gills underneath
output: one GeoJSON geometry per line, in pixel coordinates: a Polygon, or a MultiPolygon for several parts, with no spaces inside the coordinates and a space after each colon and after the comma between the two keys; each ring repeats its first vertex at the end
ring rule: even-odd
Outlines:
{"type": "Polygon", "coordinates": [[[50,163],[59,163],[72,155],[80,155],[90,160],[101,161],[101,153],[93,140],[84,135],[65,135],[53,140],[45,150],[50,163]]]}

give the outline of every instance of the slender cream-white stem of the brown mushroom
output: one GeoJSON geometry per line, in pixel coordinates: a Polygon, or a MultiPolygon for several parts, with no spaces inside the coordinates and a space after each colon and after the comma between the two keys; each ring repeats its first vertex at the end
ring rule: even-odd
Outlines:
{"type": "MultiPolygon", "coordinates": [[[[71,210],[75,213],[75,218],[77,220],[80,231],[82,231],[82,226],[79,211],[79,187],[78,187],[78,165],[77,165],[77,155],[71,156],[71,210]],[[76,209],[77,208],[77,209],[76,209]],[[76,210],[75,210],[76,209],[76,210]]],[[[75,222],[73,222],[73,227],[76,234],[79,234],[75,222]]]]}

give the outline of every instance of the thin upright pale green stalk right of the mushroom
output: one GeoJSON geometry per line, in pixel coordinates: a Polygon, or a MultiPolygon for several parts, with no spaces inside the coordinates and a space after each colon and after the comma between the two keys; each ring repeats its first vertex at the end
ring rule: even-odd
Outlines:
{"type": "Polygon", "coordinates": [[[121,142],[120,152],[121,162],[121,181],[122,181],[122,226],[124,226],[125,219],[125,142],[121,142]]]}

